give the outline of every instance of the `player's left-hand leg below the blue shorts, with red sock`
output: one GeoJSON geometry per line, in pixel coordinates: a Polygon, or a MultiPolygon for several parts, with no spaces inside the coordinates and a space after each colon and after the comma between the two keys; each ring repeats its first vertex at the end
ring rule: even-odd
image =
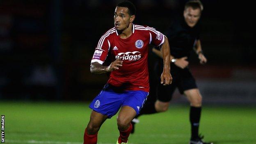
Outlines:
{"type": "Polygon", "coordinates": [[[85,128],[84,144],[97,144],[98,130],[106,119],[106,115],[92,110],[90,121],[87,125],[87,128],[85,128]]]}

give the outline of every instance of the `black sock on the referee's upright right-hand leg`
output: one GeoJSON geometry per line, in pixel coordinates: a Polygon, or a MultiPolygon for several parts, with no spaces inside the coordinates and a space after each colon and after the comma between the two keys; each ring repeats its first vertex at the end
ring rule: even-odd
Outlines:
{"type": "Polygon", "coordinates": [[[191,139],[196,139],[198,137],[200,116],[201,107],[190,106],[191,139]]]}

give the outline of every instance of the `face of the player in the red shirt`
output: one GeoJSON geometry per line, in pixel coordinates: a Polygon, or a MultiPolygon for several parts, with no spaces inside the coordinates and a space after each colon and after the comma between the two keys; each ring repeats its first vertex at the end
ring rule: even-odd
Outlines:
{"type": "Polygon", "coordinates": [[[125,30],[133,22],[134,15],[128,14],[127,7],[116,7],[114,12],[114,26],[117,30],[125,30]]]}

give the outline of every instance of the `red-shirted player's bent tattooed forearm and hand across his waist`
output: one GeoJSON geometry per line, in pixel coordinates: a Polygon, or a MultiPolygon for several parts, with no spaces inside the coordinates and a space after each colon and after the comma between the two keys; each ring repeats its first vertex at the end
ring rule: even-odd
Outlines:
{"type": "Polygon", "coordinates": [[[113,70],[119,69],[119,66],[122,66],[122,64],[123,64],[123,61],[121,61],[120,59],[116,59],[109,66],[103,66],[98,62],[93,62],[91,63],[90,71],[91,73],[94,73],[94,74],[108,73],[113,70]]]}

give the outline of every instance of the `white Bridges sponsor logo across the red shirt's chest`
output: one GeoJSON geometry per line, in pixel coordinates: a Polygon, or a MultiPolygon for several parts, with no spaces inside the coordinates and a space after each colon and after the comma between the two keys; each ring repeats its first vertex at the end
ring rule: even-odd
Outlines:
{"type": "Polygon", "coordinates": [[[121,59],[121,60],[138,60],[141,58],[141,54],[138,51],[134,52],[126,52],[126,53],[118,53],[116,55],[116,59],[121,59]]]}

